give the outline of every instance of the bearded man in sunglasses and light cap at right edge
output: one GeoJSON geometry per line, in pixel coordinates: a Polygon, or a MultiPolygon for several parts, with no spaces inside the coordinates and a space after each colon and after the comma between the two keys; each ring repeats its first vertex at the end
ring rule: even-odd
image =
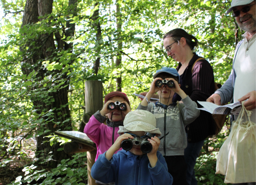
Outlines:
{"type": "MultiPolygon", "coordinates": [[[[220,105],[229,101],[244,101],[246,109],[251,110],[251,120],[256,122],[256,8],[255,0],[232,0],[231,7],[226,14],[232,13],[239,27],[245,31],[235,50],[233,57],[232,71],[223,84],[212,96],[206,101],[220,105]]],[[[234,116],[237,119],[237,116],[234,116]]],[[[255,162],[255,161],[253,161],[255,162]]],[[[256,183],[239,183],[236,185],[255,185],[256,183]]]]}

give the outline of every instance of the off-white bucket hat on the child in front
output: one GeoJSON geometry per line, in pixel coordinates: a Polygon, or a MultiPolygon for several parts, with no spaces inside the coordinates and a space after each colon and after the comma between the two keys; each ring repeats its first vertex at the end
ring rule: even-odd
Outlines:
{"type": "Polygon", "coordinates": [[[135,110],[125,116],[124,126],[119,126],[118,134],[130,131],[144,131],[161,136],[159,128],[156,128],[157,121],[154,114],[149,111],[135,110]]]}

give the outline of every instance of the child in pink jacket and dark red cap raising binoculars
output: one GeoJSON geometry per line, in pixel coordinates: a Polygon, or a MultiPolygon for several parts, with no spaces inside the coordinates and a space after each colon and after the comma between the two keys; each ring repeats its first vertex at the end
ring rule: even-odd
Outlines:
{"type": "MultiPolygon", "coordinates": [[[[125,93],[114,91],[105,96],[102,110],[94,113],[84,127],[84,133],[86,133],[97,146],[95,161],[98,159],[99,155],[107,151],[116,141],[116,138],[119,136],[117,133],[119,126],[123,126],[123,120],[130,111],[130,101],[125,93]],[[109,103],[111,104],[109,105],[109,103]],[[124,107],[126,107],[126,109],[124,107]],[[106,118],[107,125],[103,123],[106,118]]],[[[121,149],[122,148],[120,148],[120,150],[121,149]]],[[[117,152],[118,151],[115,153],[117,152]]]]}

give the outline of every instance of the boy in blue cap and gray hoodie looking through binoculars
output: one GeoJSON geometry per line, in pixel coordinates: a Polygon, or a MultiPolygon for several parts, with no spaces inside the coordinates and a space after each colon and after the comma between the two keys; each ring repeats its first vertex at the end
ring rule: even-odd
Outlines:
{"type": "Polygon", "coordinates": [[[176,69],[163,67],[153,76],[150,90],[141,101],[137,109],[153,113],[157,119],[157,127],[165,135],[158,151],[167,162],[168,172],[173,177],[173,185],[186,185],[187,165],[184,158],[184,149],[187,147],[185,126],[192,123],[200,114],[197,104],[180,89],[179,73],[176,69]],[[161,86],[162,85],[162,86],[161,86]],[[159,101],[150,103],[153,94],[157,93],[159,101]],[[181,102],[172,102],[173,94],[182,98],[181,102]]]}

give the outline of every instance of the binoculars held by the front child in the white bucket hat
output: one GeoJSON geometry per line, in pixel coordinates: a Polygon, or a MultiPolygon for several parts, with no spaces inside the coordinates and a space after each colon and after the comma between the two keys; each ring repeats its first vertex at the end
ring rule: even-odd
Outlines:
{"type": "Polygon", "coordinates": [[[140,150],[143,153],[150,153],[150,151],[152,150],[152,145],[148,141],[148,138],[152,137],[154,136],[147,132],[143,138],[140,138],[139,136],[135,136],[133,139],[128,138],[122,141],[121,147],[123,148],[123,150],[129,151],[131,150],[131,148],[133,148],[133,145],[140,145],[140,150]]]}

